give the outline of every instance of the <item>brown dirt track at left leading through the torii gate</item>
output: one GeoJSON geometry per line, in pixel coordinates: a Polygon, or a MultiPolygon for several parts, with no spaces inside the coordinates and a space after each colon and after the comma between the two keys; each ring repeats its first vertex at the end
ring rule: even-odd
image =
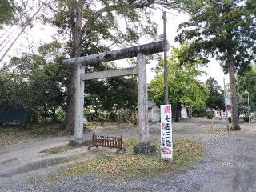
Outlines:
{"type": "MultiPolygon", "coordinates": [[[[94,130],[86,130],[86,139],[92,137],[94,130]]],[[[126,139],[137,136],[134,128],[102,130],[98,129],[100,135],[127,135],[126,139]],[[129,133],[130,132],[130,133],[129,133]]],[[[33,139],[30,142],[5,146],[0,148],[0,186],[9,185],[10,181],[19,182],[38,175],[49,174],[52,170],[68,163],[79,162],[95,156],[95,150],[88,150],[88,147],[81,147],[68,150],[60,154],[44,154],[47,150],[56,146],[66,145],[71,137],[58,137],[48,139],[33,139]]],[[[106,149],[108,150],[108,149],[106,149]]],[[[0,188],[1,191],[1,188],[0,188]]]]}

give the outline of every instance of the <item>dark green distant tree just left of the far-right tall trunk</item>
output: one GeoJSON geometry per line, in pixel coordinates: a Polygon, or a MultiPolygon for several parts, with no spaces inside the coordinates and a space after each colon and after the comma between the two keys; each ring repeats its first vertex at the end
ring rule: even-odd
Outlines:
{"type": "Polygon", "coordinates": [[[206,87],[210,91],[209,98],[207,99],[206,107],[211,110],[224,109],[224,95],[222,87],[218,85],[215,78],[208,78],[206,80],[206,87]]]}

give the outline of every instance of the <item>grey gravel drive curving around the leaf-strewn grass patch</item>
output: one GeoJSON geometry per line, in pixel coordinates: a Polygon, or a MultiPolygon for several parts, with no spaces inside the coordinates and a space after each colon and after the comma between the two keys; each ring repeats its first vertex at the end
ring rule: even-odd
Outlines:
{"type": "MultiPolygon", "coordinates": [[[[94,175],[62,178],[59,182],[37,182],[26,179],[58,170],[51,166],[29,173],[1,178],[0,191],[255,191],[256,192],[256,124],[241,124],[242,131],[222,134],[210,131],[210,121],[202,118],[174,123],[174,135],[201,141],[206,146],[202,161],[186,170],[151,176],[142,180],[108,183],[94,175]],[[3,182],[4,181],[4,182],[3,182]]],[[[224,121],[214,122],[216,128],[224,128],[224,121]]],[[[99,130],[102,133],[102,130],[99,130]]],[[[123,134],[129,138],[138,135],[134,128],[108,130],[105,134],[123,134]]],[[[150,133],[158,134],[158,124],[150,125],[150,133]]],[[[91,133],[90,133],[91,134],[91,133]]],[[[10,146],[11,149],[11,146],[10,146]]],[[[0,155],[2,158],[2,149],[0,155]]],[[[1,161],[0,161],[1,163],[1,161]]],[[[0,166],[1,168],[1,166],[0,166]]],[[[8,166],[7,168],[10,168],[8,166]]],[[[0,171],[1,172],[1,171],[0,171]]]]}

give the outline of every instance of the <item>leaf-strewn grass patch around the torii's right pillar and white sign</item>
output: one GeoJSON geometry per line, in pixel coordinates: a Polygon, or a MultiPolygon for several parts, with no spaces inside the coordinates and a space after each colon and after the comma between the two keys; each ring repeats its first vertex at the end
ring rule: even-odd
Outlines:
{"type": "MultiPolygon", "coordinates": [[[[174,160],[166,162],[161,160],[160,150],[155,155],[134,154],[133,146],[136,143],[138,141],[125,142],[127,151],[122,154],[100,153],[97,158],[63,167],[59,170],[57,178],[77,174],[96,174],[114,180],[141,178],[150,174],[177,170],[197,161],[203,154],[201,143],[184,138],[174,138],[174,160]]],[[[155,144],[157,149],[160,149],[160,144],[158,142],[155,144]]]]}

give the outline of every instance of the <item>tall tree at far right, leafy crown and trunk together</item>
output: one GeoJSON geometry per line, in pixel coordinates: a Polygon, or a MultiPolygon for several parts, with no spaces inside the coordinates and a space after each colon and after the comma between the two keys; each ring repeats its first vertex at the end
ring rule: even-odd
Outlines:
{"type": "Polygon", "coordinates": [[[225,73],[230,75],[231,128],[238,124],[238,99],[235,74],[242,74],[255,58],[256,2],[254,0],[206,1],[191,11],[189,22],[180,25],[179,42],[189,42],[184,59],[201,53],[214,56],[225,73]]]}

